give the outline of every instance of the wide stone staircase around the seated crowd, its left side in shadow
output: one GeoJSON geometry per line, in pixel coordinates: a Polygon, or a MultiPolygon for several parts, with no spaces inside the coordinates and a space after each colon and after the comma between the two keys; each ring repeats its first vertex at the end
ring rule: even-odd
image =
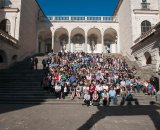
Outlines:
{"type": "MultiPolygon", "coordinates": [[[[40,84],[45,72],[41,63],[47,56],[37,58],[39,59],[37,71],[30,69],[30,59],[17,63],[9,69],[0,70],[0,103],[82,104],[83,99],[71,100],[68,96],[66,99],[56,100],[54,95],[43,90],[40,84]]],[[[153,100],[144,94],[135,94],[135,98],[139,104],[148,104],[153,100]]],[[[118,97],[119,102],[120,100],[118,97]]]]}

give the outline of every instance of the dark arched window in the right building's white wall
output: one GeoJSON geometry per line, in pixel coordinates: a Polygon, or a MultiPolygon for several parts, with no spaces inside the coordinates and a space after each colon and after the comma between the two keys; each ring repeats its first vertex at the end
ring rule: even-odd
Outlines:
{"type": "Polygon", "coordinates": [[[142,34],[144,34],[150,29],[151,29],[151,23],[149,21],[145,20],[141,23],[141,33],[142,34]]]}

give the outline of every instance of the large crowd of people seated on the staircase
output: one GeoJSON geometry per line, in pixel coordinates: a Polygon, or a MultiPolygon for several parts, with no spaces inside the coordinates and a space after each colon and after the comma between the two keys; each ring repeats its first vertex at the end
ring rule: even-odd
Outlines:
{"type": "Polygon", "coordinates": [[[153,96],[156,89],[149,81],[135,77],[136,68],[129,68],[120,57],[93,55],[84,52],[58,53],[42,61],[49,70],[42,86],[57,99],[83,98],[84,104],[109,106],[117,104],[117,96],[132,100],[133,93],[143,91],[153,96]]]}

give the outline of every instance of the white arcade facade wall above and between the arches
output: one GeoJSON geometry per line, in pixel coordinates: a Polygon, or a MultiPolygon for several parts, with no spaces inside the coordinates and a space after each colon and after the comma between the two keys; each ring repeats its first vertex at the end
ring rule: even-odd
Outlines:
{"type": "MultiPolygon", "coordinates": [[[[70,36],[71,36],[72,30],[75,28],[83,29],[86,34],[88,34],[88,31],[92,28],[96,28],[96,29],[100,30],[101,34],[103,34],[103,32],[105,30],[112,28],[112,29],[116,30],[117,35],[119,36],[118,23],[112,23],[112,22],[111,23],[109,23],[109,22],[108,23],[104,23],[104,22],[52,22],[52,24],[53,24],[53,27],[51,28],[52,32],[55,32],[59,28],[65,28],[70,33],[69,34],[70,36]]],[[[40,25],[40,28],[41,28],[41,26],[43,27],[44,25],[40,25]]],[[[101,36],[101,37],[103,37],[103,36],[101,36]]],[[[119,39],[119,37],[117,37],[117,38],[119,39]]],[[[117,42],[117,47],[115,47],[114,45],[112,47],[113,53],[120,53],[119,52],[120,45],[118,45],[118,44],[119,44],[119,40],[117,42]]],[[[54,45],[54,47],[57,48],[56,45],[54,45]]],[[[102,53],[102,50],[103,50],[102,47],[103,47],[103,45],[102,45],[102,41],[101,41],[100,43],[98,43],[96,45],[96,49],[95,49],[94,53],[102,53]]],[[[71,50],[73,50],[72,44],[71,44],[71,50]]],[[[91,53],[91,49],[90,49],[89,44],[87,44],[87,52],[91,53]]]]}

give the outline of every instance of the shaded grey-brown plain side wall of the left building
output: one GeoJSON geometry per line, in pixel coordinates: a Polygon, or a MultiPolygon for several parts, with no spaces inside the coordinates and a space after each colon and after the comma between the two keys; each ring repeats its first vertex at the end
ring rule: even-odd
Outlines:
{"type": "Polygon", "coordinates": [[[22,0],[19,29],[19,60],[36,52],[38,8],[33,0],[22,0]]]}

